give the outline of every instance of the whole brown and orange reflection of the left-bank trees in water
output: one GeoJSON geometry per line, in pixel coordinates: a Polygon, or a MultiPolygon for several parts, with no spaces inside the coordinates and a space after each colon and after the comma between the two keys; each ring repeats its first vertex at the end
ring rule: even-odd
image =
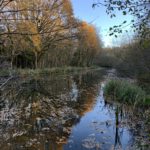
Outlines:
{"type": "MultiPolygon", "coordinates": [[[[51,76],[40,80],[17,80],[10,84],[3,91],[2,97],[3,101],[8,100],[7,111],[15,111],[15,116],[11,116],[14,123],[4,119],[8,124],[0,129],[3,137],[0,145],[6,150],[10,148],[6,145],[8,142],[14,150],[21,149],[21,145],[29,146],[32,150],[52,147],[62,149],[71,127],[93,106],[98,91],[95,84],[101,76],[96,78],[97,75],[89,73],[75,77],[51,76]],[[76,100],[72,101],[71,92],[74,87],[77,88],[77,95],[76,100]],[[7,134],[8,140],[4,134],[7,134]]],[[[4,113],[5,106],[1,108],[4,113]]]]}

